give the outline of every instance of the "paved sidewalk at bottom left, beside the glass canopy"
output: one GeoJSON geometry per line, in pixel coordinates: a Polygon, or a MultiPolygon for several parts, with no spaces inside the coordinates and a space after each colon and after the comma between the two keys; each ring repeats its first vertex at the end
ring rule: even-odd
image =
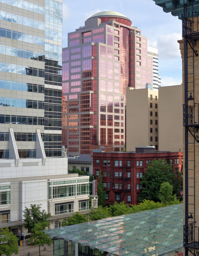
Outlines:
{"type": "MultiPolygon", "coordinates": [[[[27,239],[26,239],[27,240],[27,239]]],[[[28,255],[28,252],[30,253],[30,256],[39,256],[39,246],[27,246],[25,240],[25,256],[28,255]]],[[[41,256],[53,256],[53,244],[51,246],[45,245],[44,247],[40,247],[40,254],[41,256]],[[44,248],[46,248],[46,251],[44,251],[44,248]]],[[[12,254],[14,256],[16,254],[12,254]]],[[[19,256],[24,256],[24,240],[22,240],[22,246],[19,246],[19,256]]]]}

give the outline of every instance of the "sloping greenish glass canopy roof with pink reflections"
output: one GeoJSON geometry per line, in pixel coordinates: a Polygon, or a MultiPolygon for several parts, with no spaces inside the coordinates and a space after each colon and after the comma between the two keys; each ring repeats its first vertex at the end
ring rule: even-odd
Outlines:
{"type": "Polygon", "coordinates": [[[46,230],[110,255],[162,255],[183,247],[183,204],[46,230]]]}

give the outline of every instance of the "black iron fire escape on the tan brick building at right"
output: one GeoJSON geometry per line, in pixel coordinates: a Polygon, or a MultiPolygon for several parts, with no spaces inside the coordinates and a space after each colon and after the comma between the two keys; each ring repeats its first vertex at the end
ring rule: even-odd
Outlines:
{"type": "MultiPolygon", "coordinates": [[[[187,18],[187,4],[184,4],[184,15],[182,17],[182,36],[184,38],[184,105],[183,126],[185,143],[185,224],[183,226],[183,246],[185,256],[192,253],[199,255],[199,223],[196,222],[196,152],[195,148],[199,142],[199,103],[195,102],[199,94],[195,86],[194,60],[199,61],[197,50],[194,49],[199,40],[198,13],[194,12],[194,1],[192,0],[192,16],[187,18]],[[196,23],[197,22],[197,23],[196,23]],[[191,50],[191,51],[190,51],[191,50]],[[196,92],[197,91],[197,92],[196,92]]],[[[198,79],[198,78],[197,78],[198,79]]],[[[197,100],[198,101],[198,100],[197,100]]]]}

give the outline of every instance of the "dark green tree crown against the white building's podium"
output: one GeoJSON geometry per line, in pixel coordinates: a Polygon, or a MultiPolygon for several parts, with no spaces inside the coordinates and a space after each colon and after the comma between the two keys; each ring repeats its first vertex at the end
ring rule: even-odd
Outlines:
{"type": "Polygon", "coordinates": [[[36,204],[31,204],[30,208],[28,209],[27,207],[25,208],[25,210],[23,211],[24,213],[24,226],[26,229],[28,229],[29,233],[32,233],[33,228],[34,228],[34,224],[35,223],[43,223],[46,222],[50,217],[51,214],[50,213],[46,213],[45,210],[41,211],[41,206],[40,204],[36,205],[36,204]]]}

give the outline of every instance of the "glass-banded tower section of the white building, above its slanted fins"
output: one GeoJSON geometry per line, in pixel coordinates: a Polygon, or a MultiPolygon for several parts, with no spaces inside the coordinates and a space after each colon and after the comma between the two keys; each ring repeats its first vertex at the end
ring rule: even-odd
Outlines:
{"type": "Polygon", "coordinates": [[[1,0],[0,10],[0,158],[13,158],[9,140],[19,158],[39,157],[36,129],[45,155],[61,157],[62,2],[1,0]]]}

